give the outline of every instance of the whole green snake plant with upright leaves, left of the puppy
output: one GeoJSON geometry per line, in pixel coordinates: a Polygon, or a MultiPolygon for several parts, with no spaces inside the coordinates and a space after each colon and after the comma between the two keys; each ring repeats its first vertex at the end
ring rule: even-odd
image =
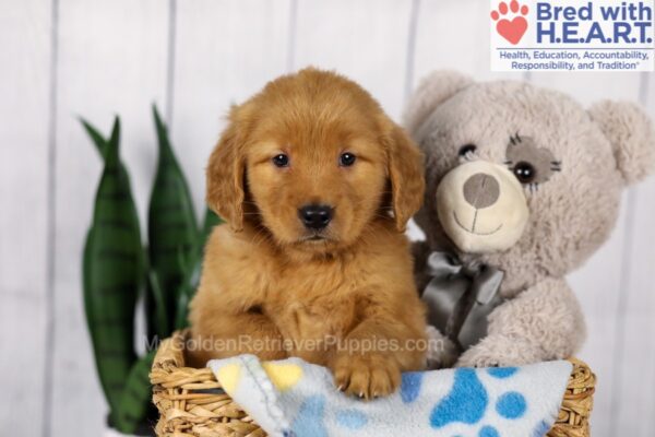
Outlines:
{"type": "Polygon", "coordinates": [[[148,206],[148,244],[142,239],[129,173],[120,160],[119,118],[109,137],[82,120],[104,162],[83,255],[84,309],[109,406],[108,426],[120,435],[154,434],[157,413],[148,381],[153,345],[184,328],[204,243],[221,223],[207,210],[203,226],[198,226],[184,175],[155,106],[153,116],[158,163],[148,206]],[[150,345],[141,356],[134,335],[138,308],[144,311],[150,345]]]}

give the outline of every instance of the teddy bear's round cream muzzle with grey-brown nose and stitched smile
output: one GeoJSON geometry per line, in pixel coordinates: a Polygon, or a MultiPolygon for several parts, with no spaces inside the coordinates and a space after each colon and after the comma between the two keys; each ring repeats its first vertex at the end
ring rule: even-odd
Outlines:
{"type": "Polygon", "coordinates": [[[485,161],[463,164],[443,177],[437,212],[445,234],[468,253],[509,249],[523,235],[529,215],[516,177],[485,161]]]}

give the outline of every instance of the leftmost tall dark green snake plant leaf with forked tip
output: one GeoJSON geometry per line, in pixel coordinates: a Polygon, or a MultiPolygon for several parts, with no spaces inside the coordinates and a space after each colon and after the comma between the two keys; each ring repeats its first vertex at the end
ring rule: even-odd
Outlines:
{"type": "Polygon", "coordinates": [[[111,139],[98,146],[105,149],[105,166],[83,260],[86,320],[112,420],[136,361],[133,320],[143,282],[141,233],[128,175],[119,158],[119,137],[117,119],[111,139]]]}

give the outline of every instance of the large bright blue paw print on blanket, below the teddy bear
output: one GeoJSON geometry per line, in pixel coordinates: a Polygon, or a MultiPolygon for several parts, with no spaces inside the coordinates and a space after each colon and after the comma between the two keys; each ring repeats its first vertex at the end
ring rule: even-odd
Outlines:
{"type": "MultiPolygon", "coordinates": [[[[487,373],[497,379],[510,378],[517,371],[515,367],[487,369],[487,373]]],[[[433,428],[457,422],[473,425],[485,416],[489,395],[476,370],[460,368],[455,370],[454,379],[451,392],[434,406],[430,414],[430,425],[433,428]]],[[[526,410],[525,398],[516,391],[503,393],[496,401],[496,412],[508,420],[521,418],[526,410]]],[[[500,437],[500,434],[495,427],[487,425],[480,428],[478,437],[500,437]]]]}

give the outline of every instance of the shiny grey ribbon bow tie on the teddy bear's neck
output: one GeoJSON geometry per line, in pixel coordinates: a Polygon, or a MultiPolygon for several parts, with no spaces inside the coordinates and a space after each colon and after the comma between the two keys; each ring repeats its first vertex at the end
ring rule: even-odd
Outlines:
{"type": "Polygon", "coordinates": [[[487,335],[487,316],[503,298],[498,293],[504,273],[481,262],[463,264],[455,256],[432,252],[427,261],[432,280],[422,300],[428,322],[464,351],[487,335]]]}

